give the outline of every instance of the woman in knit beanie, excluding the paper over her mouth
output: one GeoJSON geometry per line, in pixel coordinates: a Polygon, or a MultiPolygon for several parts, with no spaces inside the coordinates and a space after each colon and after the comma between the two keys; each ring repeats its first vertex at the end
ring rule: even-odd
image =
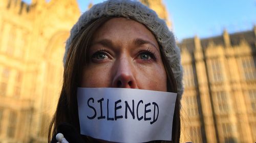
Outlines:
{"type": "Polygon", "coordinates": [[[94,5],[73,26],[63,62],[63,85],[49,142],[51,138],[56,141],[55,135],[61,131],[73,137],[65,135],[70,142],[104,142],[78,133],[78,87],[178,93],[172,142],[179,142],[183,92],[180,51],[173,33],[153,10],[129,0],[94,5]]]}

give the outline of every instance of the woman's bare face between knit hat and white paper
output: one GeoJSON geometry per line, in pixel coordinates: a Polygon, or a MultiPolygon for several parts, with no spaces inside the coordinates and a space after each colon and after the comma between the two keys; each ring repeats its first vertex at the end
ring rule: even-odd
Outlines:
{"type": "Polygon", "coordinates": [[[93,35],[81,87],[167,91],[154,35],[134,20],[112,18],[93,35]]]}

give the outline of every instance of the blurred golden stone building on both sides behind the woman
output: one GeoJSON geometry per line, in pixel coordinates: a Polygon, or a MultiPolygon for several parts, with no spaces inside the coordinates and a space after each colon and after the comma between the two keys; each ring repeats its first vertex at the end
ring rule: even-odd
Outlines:
{"type": "MultiPolygon", "coordinates": [[[[168,20],[161,0],[141,0],[168,20]]],[[[47,142],[62,84],[74,0],[0,3],[0,142],[47,142]]],[[[181,141],[256,141],[256,26],[178,42],[184,69],[181,141]]]]}

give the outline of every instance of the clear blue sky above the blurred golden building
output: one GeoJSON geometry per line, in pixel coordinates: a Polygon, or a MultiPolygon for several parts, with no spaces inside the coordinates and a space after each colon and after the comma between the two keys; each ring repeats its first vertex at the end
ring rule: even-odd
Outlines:
{"type": "MultiPolygon", "coordinates": [[[[25,2],[31,3],[31,0],[25,2]]],[[[77,2],[84,12],[90,2],[97,4],[103,0],[77,2]]],[[[200,38],[218,36],[224,29],[229,33],[248,31],[256,25],[256,0],[163,0],[163,4],[178,41],[195,35],[200,38]]]]}

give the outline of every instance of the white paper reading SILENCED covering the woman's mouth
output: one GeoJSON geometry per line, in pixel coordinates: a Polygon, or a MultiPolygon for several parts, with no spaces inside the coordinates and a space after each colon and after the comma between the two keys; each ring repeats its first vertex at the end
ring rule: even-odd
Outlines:
{"type": "Polygon", "coordinates": [[[80,133],[114,142],[171,140],[177,93],[78,88],[80,133]]]}

